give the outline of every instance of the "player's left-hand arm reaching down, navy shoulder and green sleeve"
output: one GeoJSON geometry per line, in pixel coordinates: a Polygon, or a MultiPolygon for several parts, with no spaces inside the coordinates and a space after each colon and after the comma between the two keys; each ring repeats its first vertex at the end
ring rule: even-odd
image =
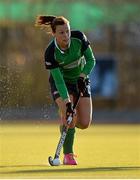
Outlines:
{"type": "Polygon", "coordinates": [[[45,51],[45,66],[50,70],[50,73],[54,79],[56,88],[61,98],[67,103],[70,101],[68,90],[63,79],[63,75],[60,71],[59,64],[55,59],[55,45],[52,42],[45,51]]]}

